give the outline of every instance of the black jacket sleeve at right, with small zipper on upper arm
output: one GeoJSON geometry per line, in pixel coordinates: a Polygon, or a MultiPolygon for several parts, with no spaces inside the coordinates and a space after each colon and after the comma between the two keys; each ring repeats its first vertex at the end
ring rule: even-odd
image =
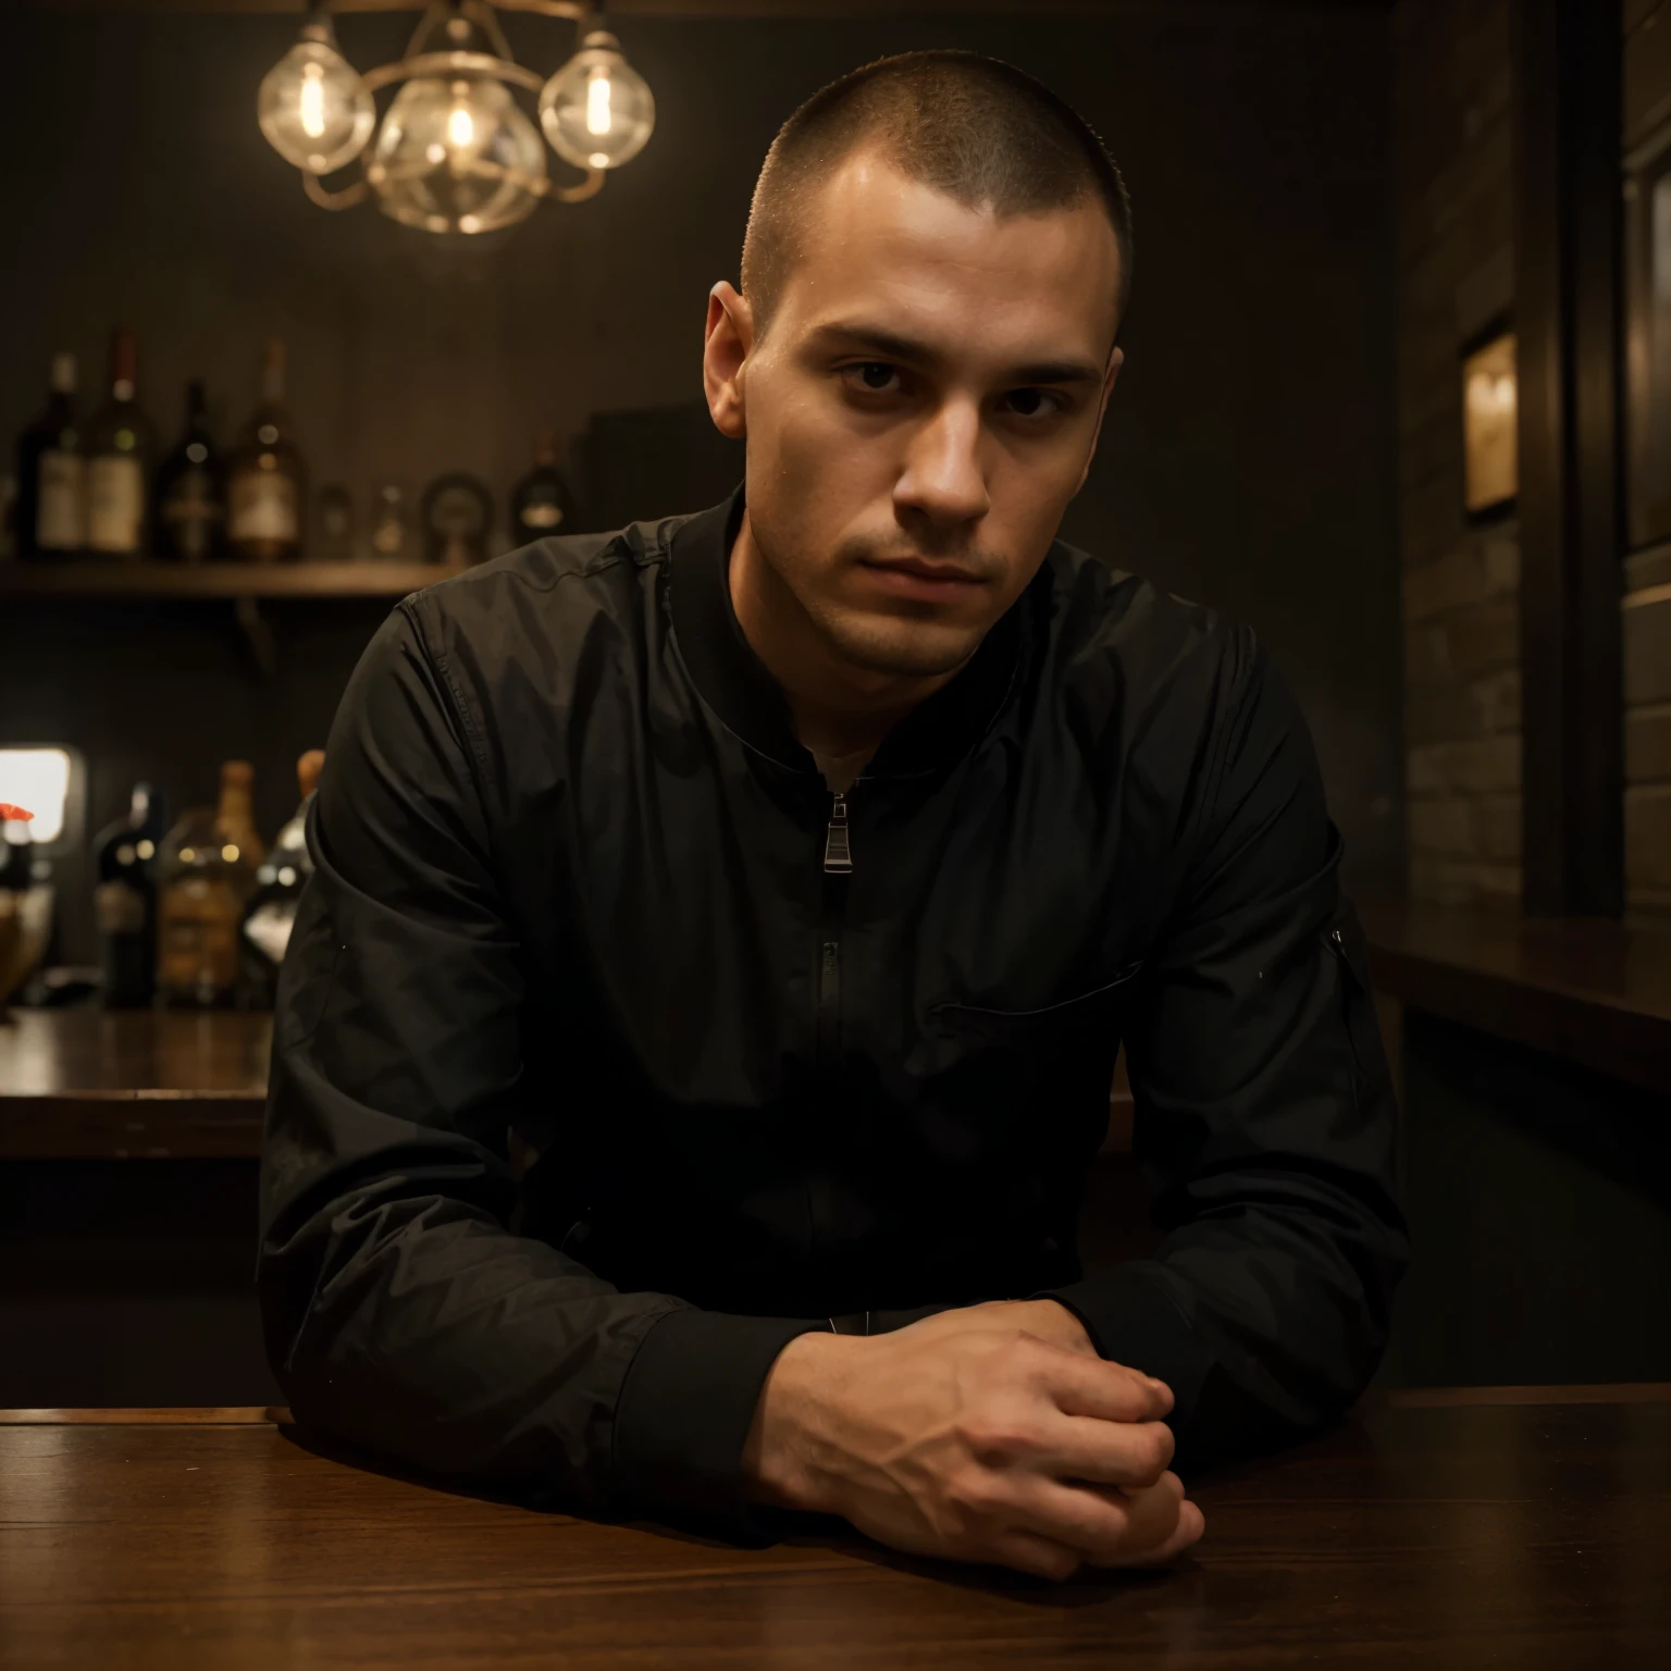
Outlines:
{"type": "Polygon", "coordinates": [[[1173,1389],[1186,1462],[1338,1415],[1380,1360],[1409,1253],[1397,1106],[1310,734],[1250,635],[1213,705],[1183,884],[1125,1019],[1165,1235],[1053,1295],[1105,1357],[1173,1389]]]}

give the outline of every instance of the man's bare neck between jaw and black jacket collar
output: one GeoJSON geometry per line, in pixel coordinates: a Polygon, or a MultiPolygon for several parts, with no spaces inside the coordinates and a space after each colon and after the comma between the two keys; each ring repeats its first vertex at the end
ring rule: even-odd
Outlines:
{"type": "Polygon", "coordinates": [[[844,662],[754,538],[749,511],[730,550],[730,598],[749,648],[782,687],[795,735],[832,789],[847,789],[882,739],[956,677],[877,673],[844,662]]]}

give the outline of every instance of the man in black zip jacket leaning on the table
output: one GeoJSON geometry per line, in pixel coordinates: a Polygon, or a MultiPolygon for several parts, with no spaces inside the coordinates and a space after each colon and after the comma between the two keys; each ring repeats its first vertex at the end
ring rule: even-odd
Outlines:
{"type": "Polygon", "coordinates": [[[730,503],[408,598],[284,969],[269,1348],[429,1470],[1051,1577],[1335,1415],[1405,1240],[1292,698],[1053,543],[1120,369],[1120,175],[911,53],[785,124],[709,301],[730,503]],[[1083,1278],[1125,1041],[1166,1232],[1083,1278]]]}

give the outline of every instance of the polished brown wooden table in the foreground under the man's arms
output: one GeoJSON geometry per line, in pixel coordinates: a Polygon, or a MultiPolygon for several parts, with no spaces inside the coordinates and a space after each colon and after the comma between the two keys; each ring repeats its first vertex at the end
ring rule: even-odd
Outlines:
{"type": "Polygon", "coordinates": [[[1195,1494],[1183,1566],[1051,1587],[436,1491],[259,1410],[12,1412],[0,1664],[1671,1663],[1671,1387],[1389,1395],[1195,1494]]]}

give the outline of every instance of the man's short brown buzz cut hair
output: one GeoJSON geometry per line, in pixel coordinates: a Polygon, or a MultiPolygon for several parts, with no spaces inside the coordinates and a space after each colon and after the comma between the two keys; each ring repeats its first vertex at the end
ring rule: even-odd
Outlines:
{"type": "Polygon", "coordinates": [[[1131,292],[1131,199],[1095,129],[1001,58],[937,48],[877,58],[815,92],[765,154],[742,241],[742,294],[764,334],[819,189],[874,145],[907,179],[999,219],[1100,202],[1115,229],[1115,321],[1131,292]]]}

